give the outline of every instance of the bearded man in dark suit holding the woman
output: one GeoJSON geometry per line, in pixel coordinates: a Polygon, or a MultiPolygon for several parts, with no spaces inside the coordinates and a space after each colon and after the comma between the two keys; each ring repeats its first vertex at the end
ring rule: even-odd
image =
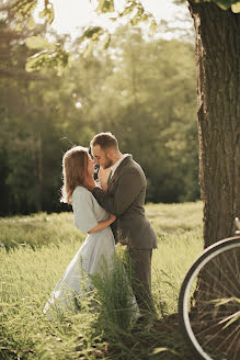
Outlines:
{"type": "Polygon", "coordinates": [[[116,243],[127,245],[133,263],[133,290],[142,315],[155,313],[151,297],[151,256],[157,236],[145,215],[147,181],[141,167],[129,154],[122,154],[112,133],[91,140],[91,151],[103,169],[111,168],[107,189],[94,184],[89,190],[108,213],[116,215],[112,225],[116,243]]]}

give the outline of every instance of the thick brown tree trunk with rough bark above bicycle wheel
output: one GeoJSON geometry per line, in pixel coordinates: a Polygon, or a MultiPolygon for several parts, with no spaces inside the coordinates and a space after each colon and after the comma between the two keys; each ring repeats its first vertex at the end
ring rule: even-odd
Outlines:
{"type": "Polygon", "coordinates": [[[196,32],[199,183],[205,247],[240,217],[240,14],[190,0],[196,32]]]}

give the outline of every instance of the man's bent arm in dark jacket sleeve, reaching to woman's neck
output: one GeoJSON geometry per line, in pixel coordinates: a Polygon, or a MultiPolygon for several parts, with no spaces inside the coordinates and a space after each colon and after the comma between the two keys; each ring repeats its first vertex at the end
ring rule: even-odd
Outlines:
{"type": "Polygon", "coordinates": [[[134,202],[141,188],[141,176],[133,169],[119,176],[114,194],[111,195],[100,188],[92,189],[92,193],[103,209],[111,214],[119,216],[134,202]]]}

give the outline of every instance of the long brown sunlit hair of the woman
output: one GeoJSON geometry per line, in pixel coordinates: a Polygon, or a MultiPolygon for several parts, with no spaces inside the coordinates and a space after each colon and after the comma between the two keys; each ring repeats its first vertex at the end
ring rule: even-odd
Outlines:
{"type": "Polygon", "coordinates": [[[62,157],[62,181],[60,202],[71,203],[71,195],[76,187],[83,185],[88,173],[88,148],[75,146],[62,157]]]}

